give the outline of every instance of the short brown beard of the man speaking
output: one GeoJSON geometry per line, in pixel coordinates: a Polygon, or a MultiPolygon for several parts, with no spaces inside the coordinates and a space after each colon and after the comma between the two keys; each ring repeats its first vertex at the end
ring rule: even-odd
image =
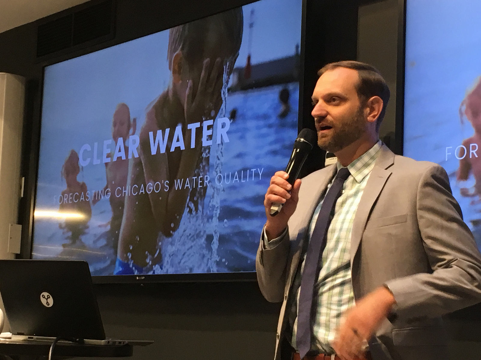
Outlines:
{"type": "Polygon", "coordinates": [[[334,128],[332,128],[332,136],[328,143],[325,143],[327,139],[318,138],[317,145],[325,151],[335,153],[354,143],[364,132],[366,132],[364,114],[363,109],[359,107],[354,116],[350,120],[342,123],[339,129],[334,130],[334,128]]]}

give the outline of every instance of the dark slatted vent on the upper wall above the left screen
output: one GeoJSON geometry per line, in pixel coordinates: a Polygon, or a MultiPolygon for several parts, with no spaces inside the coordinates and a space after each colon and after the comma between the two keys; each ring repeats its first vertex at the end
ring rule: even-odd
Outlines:
{"type": "Polygon", "coordinates": [[[37,57],[113,34],[113,0],[38,26],[37,57]]]}

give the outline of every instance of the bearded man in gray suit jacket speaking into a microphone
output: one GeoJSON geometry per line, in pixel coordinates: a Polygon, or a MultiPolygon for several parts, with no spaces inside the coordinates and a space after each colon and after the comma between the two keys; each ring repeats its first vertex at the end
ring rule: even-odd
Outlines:
{"type": "Polygon", "coordinates": [[[481,301],[481,255],[447,174],[380,142],[389,89],[375,68],[342,61],[318,75],[318,145],[338,163],[293,186],[276,172],[264,201],[256,269],[266,299],[283,302],[275,359],[447,359],[441,316],[481,301]],[[283,204],[277,216],[273,203],[283,204]]]}

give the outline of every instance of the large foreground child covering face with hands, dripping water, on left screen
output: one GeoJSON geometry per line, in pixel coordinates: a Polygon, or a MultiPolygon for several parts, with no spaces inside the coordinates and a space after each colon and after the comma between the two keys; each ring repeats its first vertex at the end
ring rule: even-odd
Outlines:
{"type": "MultiPolygon", "coordinates": [[[[170,84],[147,108],[139,133],[139,157],[130,159],[128,179],[132,186],[168,181],[170,189],[127,194],[115,274],[142,273],[148,264],[158,264],[162,259],[158,239],[173,235],[187,204],[191,204],[190,212],[199,210],[205,188],[174,190],[174,179],[205,175],[202,172],[208,165],[202,154],[202,131],[197,129],[192,139],[187,129],[216,118],[222,105],[223,85],[239,55],[242,31],[241,8],[170,29],[170,84]],[[165,133],[165,129],[174,130],[177,125],[182,127],[184,143],[195,146],[152,155],[149,133],[165,133]]],[[[167,148],[170,146],[169,139],[167,148]]]]}

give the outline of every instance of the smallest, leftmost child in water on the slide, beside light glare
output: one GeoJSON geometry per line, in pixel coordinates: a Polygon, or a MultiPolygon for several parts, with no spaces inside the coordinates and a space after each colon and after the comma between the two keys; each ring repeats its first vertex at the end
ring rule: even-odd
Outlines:
{"type": "Polygon", "coordinates": [[[79,182],[77,175],[80,173],[78,165],[78,154],[75,150],[70,150],[70,154],[65,159],[62,166],[62,177],[67,183],[67,188],[62,191],[62,203],[59,210],[61,213],[76,215],[74,217],[66,217],[63,224],[59,227],[70,232],[69,238],[72,244],[79,240],[80,235],[85,233],[88,228],[87,223],[92,216],[90,208],[89,194],[85,182],[79,182]]]}

